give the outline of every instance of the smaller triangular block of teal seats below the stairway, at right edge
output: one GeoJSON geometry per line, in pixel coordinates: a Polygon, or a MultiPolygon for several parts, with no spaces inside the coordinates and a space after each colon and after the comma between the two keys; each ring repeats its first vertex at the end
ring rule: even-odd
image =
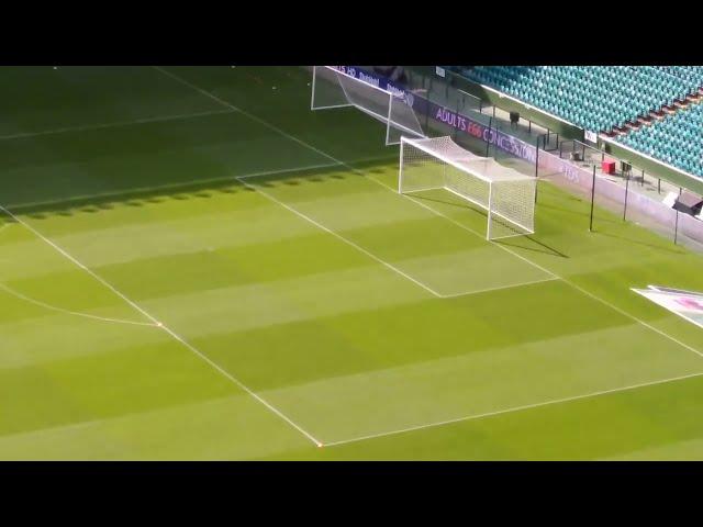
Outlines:
{"type": "Polygon", "coordinates": [[[617,138],[631,148],[703,177],[703,104],[679,110],[662,121],[617,138]]]}

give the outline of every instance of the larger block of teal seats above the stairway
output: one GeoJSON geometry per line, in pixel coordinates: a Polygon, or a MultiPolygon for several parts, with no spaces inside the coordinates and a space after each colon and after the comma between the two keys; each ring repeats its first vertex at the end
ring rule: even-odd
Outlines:
{"type": "Polygon", "coordinates": [[[701,66],[449,66],[577,126],[602,132],[703,86],[701,66]]]}

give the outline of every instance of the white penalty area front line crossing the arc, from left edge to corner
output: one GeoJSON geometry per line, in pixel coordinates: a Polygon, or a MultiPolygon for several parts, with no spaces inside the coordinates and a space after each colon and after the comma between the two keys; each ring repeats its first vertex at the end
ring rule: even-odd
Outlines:
{"type": "Polygon", "coordinates": [[[136,311],[138,311],[140,313],[142,313],[142,315],[144,315],[146,318],[148,318],[149,321],[152,321],[155,325],[157,325],[158,327],[160,327],[164,332],[166,332],[168,335],[170,335],[172,338],[175,338],[176,340],[178,340],[180,344],[182,344],[186,348],[188,348],[190,351],[192,351],[193,354],[196,354],[198,357],[200,357],[203,361],[205,361],[208,365],[210,365],[212,368],[214,368],[215,370],[217,370],[223,377],[227,378],[230,381],[232,381],[234,384],[236,384],[237,386],[239,386],[242,390],[244,390],[246,393],[248,393],[252,397],[254,397],[255,400],[257,400],[259,403],[261,403],[264,406],[266,406],[270,412],[272,412],[274,414],[276,414],[278,417],[280,417],[282,421],[284,421],[286,423],[288,423],[290,426],[292,426],[293,428],[295,428],[298,431],[300,431],[303,436],[305,436],[309,440],[311,440],[312,442],[314,442],[317,447],[322,446],[322,444],[315,439],[314,436],[312,436],[309,431],[306,431],[304,428],[302,428],[300,425],[298,425],[295,422],[293,422],[290,417],[288,417],[286,414],[283,414],[280,410],[278,410],[277,407],[275,407],[272,404],[270,404],[268,401],[264,400],[260,395],[258,395],[257,393],[255,393],[252,389],[249,389],[246,384],[244,384],[242,381],[239,381],[237,378],[235,378],[234,375],[232,375],[228,371],[224,370],[222,367],[220,367],[217,363],[213,362],[212,359],[210,359],[207,355],[202,354],[198,348],[196,348],[193,345],[191,345],[189,341],[187,341],[183,337],[181,337],[180,335],[178,335],[176,332],[174,332],[172,329],[170,329],[168,326],[166,326],[165,324],[160,323],[159,321],[157,321],[153,315],[150,315],[148,312],[146,312],[142,306],[140,306],[136,302],[134,302],[133,300],[131,300],[130,298],[127,298],[125,294],[123,294],[121,291],[119,291],[114,285],[112,285],[110,282],[108,282],[107,280],[104,280],[102,277],[100,277],[98,273],[96,273],[92,269],[88,268],[87,266],[85,266],[83,264],[81,264],[79,260],[77,260],[74,256],[71,256],[69,253],[67,253],[66,250],[64,250],[62,247],[59,247],[58,245],[56,245],[54,242],[52,242],[51,239],[48,239],[46,236],[44,236],[42,233],[40,233],[38,231],[36,231],[34,227],[32,227],[29,223],[24,222],[23,220],[21,220],[20,217],[15,216],[12,212],[10,212],[9,210],[7,210],[4,206],[0,205],[0,211],[3,211],[5,214],[8,214],[10,217],[12,217],[15,222],[22,224],[26,229],[29,229],[30,232],[34,233],[34,235],[41,239],[43,239],[46,244],[51,245],[52,247],[54,247],[55,250],[57,250],[59,254],[62,254],[65,258],[67,258],[68,260],[72,261],[76,266],[78,266],[79,268],[81,268],[83,271],[86,271],[88,274],[90,274],[92,278],[94,278],[97,281],[99,281],[100,283],[102,283],[105,288],[108,288],[110,291],[112,291],[114,294],[116,294],[118,296],[120,296],[122,300],[124,300],[127,304],[130,304],[132,307],[134,307],[136,311]]]}

